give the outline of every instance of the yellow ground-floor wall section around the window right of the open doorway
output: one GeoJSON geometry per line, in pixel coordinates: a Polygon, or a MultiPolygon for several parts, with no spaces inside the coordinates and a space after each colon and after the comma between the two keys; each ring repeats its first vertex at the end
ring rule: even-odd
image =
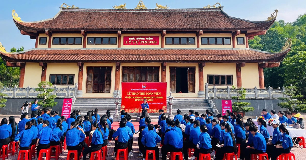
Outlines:
{"type": "MultiPolygon", "coordinates": [[[[203,67],[204,85],[207,83],[207,75],[233,75],[233,85],[237,85],[236,63],[206,63],[203,67]]],[[[241,76],[243,79],[243,76],[241,76]]],[[[216,86],[216,88],[226,88],[227,86],[216,86]]],[[[212,88],[212,86],[209,86],[212,88]]]]}

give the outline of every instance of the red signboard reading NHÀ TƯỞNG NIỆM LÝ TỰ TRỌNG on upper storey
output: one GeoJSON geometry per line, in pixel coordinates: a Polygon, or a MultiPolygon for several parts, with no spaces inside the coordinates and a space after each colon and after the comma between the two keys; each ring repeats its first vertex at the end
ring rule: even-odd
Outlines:
{"type": "Polygon", "coordinates": [[[123,45],[159,45],[159,36],[123,36],[123,45]]]}

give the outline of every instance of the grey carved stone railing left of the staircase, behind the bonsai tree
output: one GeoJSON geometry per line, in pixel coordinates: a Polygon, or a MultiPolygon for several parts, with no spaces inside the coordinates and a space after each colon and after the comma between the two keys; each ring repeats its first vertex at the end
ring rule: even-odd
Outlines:
{"type": "MultiPolygon", "coordinates": [[[[53,86],[52,88],[54,91],[51,94],[56,95],[56,98],[74,98],[77,94],[77,84],[73,87],[57,88],[53,86]]],[[[13,88],[3,88],[0,92],[7,95],[5,98],[36,98],[39,93],[42,93],[30,86],[27,88],[18,88],[17,86],[13,88]]]]}

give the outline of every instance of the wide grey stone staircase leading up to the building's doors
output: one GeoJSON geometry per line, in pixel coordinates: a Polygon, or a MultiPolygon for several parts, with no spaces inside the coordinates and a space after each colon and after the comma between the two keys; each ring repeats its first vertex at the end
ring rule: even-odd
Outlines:
{"type": "MultiPolygon", "coordinates": [[[[88,111],[95,110],[98,108],[99,115],[102,116],[106,114],[106,110],[110,110],[110,113],[113,115],[115,113],[115,99],[114,98],[77,98],[72,111],[73,110],[80,110],[81,115],[84,116],[87,114],[88,111]]],[[[121,99],[120,99],[121,102],[121,99]]],[[[189,113],[189,110],[194,110],[195,112],[205,113],[206,109],[212,111],[207,99],[203,98],[185,98],[185,99],[173,99],[174,104],[172,105],[172,114],[176,115],[176,110],[181,110],[181,115],[185,113],[189,113]]],[[[119,103],[120,108],[121,103],[119,103]]],[[[120,115],[120,110],[118,111],[120,115]]],[[[129,113],[132,116],[132,119],[136,119],[138,113],[129,113]]],[[[159,113],[149,113],[151,119],[157,121],[159,117],[159,113]]],[[[167,115],[169,114],[169,104],[167,105],[167,115]]]]}

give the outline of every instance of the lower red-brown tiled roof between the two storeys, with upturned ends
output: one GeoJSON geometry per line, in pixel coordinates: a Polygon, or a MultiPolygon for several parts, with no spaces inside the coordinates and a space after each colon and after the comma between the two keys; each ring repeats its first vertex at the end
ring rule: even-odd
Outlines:
{"type": "Polygon", "coordinates": [[[0,56],[10,62],[278,62],[280,53],[254,49],[38,49],[0,56]]]}

